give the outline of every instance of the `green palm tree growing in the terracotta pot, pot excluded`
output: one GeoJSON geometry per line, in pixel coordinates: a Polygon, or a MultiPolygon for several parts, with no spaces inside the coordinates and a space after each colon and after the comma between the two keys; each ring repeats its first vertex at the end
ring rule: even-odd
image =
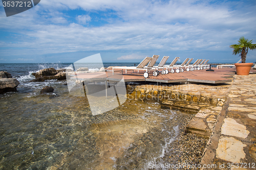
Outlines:
{"type": "Polygon", "coordinates": [[[252,44],[252,40],[248,40],[244,37],[240,37],[238,42],[239,44],[230,45],[230,48],[233,48],[233,55],[240,54],[242,63],[245,63],[248,50],[255,50],[256,44],[252,44]]]}

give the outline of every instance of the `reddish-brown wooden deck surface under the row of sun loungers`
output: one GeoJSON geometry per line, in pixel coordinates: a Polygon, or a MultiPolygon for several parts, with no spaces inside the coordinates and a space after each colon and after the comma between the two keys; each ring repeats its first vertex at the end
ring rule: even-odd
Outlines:
{"type": "MultiPolygon", "coordinates": [[[[195,70],[195,71],[184,71],[180,73],[168,73],[166,75],[162,75],[161,73],[157,76],[153,76],[153,72],[149,72],[149,77],[144,78],[144,71],[133,72],[132,70],[127,70],[127,74],[121,74],[121,70],[116,70],[115,75],[113,75],[112,70],[100,71],[100,72],[88,72],[82,74],[76,74],[71,77],[72,80],[80,80],[80,81],[118,81],[118,82],[139,82],[139,81],[147,81],[147,82],[161,82],[161,83],[189,83],[189,82],[197,82],[197,83],[210,83],[210,84],[218,84],[218,83],[227,83],[231,82],[230,78],[236,72],[235,68],[212,68],[215,71],[206,71],[203,70],[195,70]]],[[[251,69],[250,73],[256,73],[256,70],[251,69]]]]}

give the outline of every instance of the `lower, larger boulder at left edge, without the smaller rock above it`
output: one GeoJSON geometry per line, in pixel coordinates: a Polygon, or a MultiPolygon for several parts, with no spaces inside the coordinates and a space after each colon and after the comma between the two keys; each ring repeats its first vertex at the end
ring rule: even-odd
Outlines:
{"type": "Polygon", "coordinates": [[[19,82],[14,78],[3,78],[0,79],[0,93],[5,93],[9,91],[17,91],[17,86],[19,82]]]}

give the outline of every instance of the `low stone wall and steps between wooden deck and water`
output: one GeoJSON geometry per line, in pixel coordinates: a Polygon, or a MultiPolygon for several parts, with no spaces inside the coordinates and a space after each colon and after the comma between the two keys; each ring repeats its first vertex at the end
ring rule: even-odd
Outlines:
{"type": "Polygon", "coordinates": [[[195,117],[188,123],[186,132],[209,138],[214,131],[217,119],[227,99],[230,85],[227,85],[225,90],[221,86],[215,87],[217,89],[207,86],[208,90],[213,92],[202,91],[198,88],[199,86],[192,85],[191,87],[193,88],[189,89],[187,88],[189,85],[184,85],[182,88],[156,85],[127,85],[127,99],[158,102],[162,108],[195,114],[195,117]],[[220,95],[220,92],[223,93],[220,95]]]}

